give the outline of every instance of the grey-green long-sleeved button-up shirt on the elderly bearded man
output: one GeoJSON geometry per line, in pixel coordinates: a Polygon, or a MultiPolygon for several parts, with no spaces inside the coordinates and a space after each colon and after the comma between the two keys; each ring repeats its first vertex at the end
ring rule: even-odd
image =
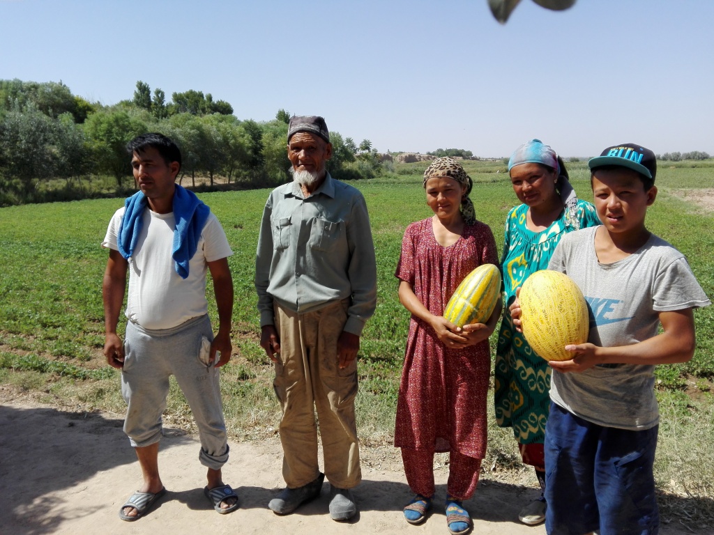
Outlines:
{"type": "Polygon", "coordinates": [[[361,335],[374,313],[377,272],[363,195],[329,173],[309,197],[298,183],[273,190],[263,210],[256,255],[261,327],[273,325],[273,299],[303,313],[350,298],[343,330],[361,335]]]}

